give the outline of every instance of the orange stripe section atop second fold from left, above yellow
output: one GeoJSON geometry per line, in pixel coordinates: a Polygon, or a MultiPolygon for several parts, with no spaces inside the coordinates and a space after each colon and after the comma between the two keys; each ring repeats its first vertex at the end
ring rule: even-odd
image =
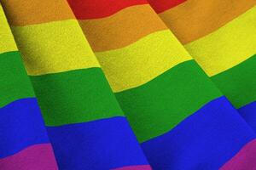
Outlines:
{"type": "Polygon", "coordinates": [[[63,0],[2,0],[11,26],[26,26],[55,20],[74,19],[63,0]]]}

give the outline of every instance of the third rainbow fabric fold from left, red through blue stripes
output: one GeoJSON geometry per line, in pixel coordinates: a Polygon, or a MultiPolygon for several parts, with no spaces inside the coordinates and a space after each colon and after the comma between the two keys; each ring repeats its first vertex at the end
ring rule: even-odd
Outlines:
{"type": "Polygon", "coordinates": [[[255,138],[148,3],[68,3],[154,169],[218,169],[255,138]]]}

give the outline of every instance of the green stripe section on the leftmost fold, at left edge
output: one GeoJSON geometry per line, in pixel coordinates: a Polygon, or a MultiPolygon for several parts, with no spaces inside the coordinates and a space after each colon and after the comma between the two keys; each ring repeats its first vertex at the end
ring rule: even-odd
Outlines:
{"type": "Polygon", "coordinates": [[[20,53],[15,51],[0,54],[0,107],[16,99],[30,97],[35,97],[35,94],[20,53]]]}

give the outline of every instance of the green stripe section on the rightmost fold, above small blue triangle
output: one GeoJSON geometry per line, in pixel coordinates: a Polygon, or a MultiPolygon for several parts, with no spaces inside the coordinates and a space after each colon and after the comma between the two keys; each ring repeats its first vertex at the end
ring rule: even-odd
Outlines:
{"type": "Polygon", "coordinates": [[[217,87],[240,108],[256,100],[256,54],[214,77],[217,87]]]}

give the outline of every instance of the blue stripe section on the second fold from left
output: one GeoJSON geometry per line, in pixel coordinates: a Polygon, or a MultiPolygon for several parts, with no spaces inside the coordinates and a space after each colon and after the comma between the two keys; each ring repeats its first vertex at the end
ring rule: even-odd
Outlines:
{"type": "Polygon", "coordinates": [[[102,170],[148,164],[125,117],[47,130],[60,169],[102,170]]]}

